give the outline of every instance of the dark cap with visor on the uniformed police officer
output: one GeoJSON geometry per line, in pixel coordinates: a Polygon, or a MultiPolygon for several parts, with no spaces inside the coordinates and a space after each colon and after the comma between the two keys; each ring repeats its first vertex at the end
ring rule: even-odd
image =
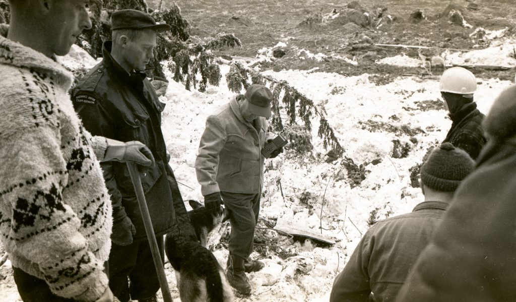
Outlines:
{"type": "Polygon", "coordinates": [[[170,30],[170,25],[156,24],[156,21],[143,11],[122,9],[111,14],[111,30],[116,29],[153,29],[159,33],[170,30]]]}

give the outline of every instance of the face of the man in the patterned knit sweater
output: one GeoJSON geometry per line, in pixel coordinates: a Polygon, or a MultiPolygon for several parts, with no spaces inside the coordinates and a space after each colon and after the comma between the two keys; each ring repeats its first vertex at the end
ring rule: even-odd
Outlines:
{"type": "Polygon", "coordinates": [[[54,54],[64,56],[84,29],[91,28],[90,0],[55,0],[47,14],[48,43],[54,54]]]}

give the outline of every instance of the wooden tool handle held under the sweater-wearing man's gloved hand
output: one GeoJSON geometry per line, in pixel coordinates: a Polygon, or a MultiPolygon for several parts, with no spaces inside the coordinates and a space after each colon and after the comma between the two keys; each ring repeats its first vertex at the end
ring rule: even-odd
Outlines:
{"type": "Polygon", "coordinates": [[[163,300],[165,302],[172,302],[172,295],[168,287],[167,276],[165,276],[165,268],[159,253],[158,243],[156,241],[156,235],[154,235],[154,228],[152,227],[151,216],[149,215],[149,209],[147,208],[147,201],[145,195],[143,195],[143,187],[141,186],[140,174],[136,164],[127,163],[129,169],[129,175],[133,182],[134,189],[136,191],[136,198],[140,206],[141,217],[143,218],[143,225],[145,226],[145,232],[147,233],[147,240],[151,246],[152,258],[154,259],[154,266],[156,267],[156,273],[158,274],[159,286],[161,287],[163,300]]]}

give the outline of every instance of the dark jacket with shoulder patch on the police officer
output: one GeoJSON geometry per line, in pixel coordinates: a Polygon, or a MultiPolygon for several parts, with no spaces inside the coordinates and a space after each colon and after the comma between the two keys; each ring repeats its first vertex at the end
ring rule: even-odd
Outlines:
{"type": "MultiPolygon", "coordinates": [[[[144,73],[129,74],[111,57],[111,42],[106,41],[103,46],[104,59],[79,81],[72,91],[72,101],[92,134],[120,141],[138,140],[152,151],[156,165],[140,173],[140,177],[154,232],[165,234],[174,219],[173,192],[167,179],[167,169],[169,174],[172,170],[160,128],[164,104],[158,101],[144,73]]],[[[113,204],[114,223],[128,216],[136,227],[133,240],[146,239],[126,164],[107,162],[102,168],[113,204]]]]}

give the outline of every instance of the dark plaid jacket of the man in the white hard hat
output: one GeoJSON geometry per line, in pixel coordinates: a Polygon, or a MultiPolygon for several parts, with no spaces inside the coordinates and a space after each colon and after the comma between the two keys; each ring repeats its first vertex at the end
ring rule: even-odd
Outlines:
{"type": "Polygon", "coordinates": [[[477,109],[476,103],[465,104],[456,113],[450,114],[453,123],[451,123],[451,128],[443,142],[451,142],[476,160],[480,149],[486,144],[486,137],[482,129],[482,120],[485,117],[477,109]]]}

